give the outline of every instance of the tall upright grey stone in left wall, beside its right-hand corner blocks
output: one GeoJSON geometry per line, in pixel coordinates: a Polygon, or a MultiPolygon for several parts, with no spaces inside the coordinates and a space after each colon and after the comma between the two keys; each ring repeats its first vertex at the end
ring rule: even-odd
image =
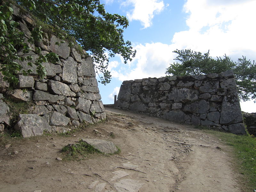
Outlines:
{"type": "Polygon", "coordinates": [[[63,61],[62,80],[68,83],[77,83],[77,63],[72,57],[63,61]]]}

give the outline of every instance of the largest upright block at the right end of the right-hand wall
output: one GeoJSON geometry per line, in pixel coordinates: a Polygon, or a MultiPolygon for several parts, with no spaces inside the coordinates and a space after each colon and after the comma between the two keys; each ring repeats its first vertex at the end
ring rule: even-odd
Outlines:
{"type": "Polygon", "coordinates": [[[243,116],[238,97],[235,95],[224,96],[220,113],[220,124],[236,124],[243,122],[243,116]]]}

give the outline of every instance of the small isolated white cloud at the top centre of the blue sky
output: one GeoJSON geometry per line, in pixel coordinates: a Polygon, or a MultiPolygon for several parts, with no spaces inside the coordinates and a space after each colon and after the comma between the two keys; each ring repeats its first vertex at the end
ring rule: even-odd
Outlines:
{"type": "Polygon", "coordinates": [[[122,5],[128,4],[134,6],[131,12],[127,12],[128,20],[139,20],[144,28],[150,27],[155,14],[159,14],[164,9],[163,0],[126,0],[122,5]]]}

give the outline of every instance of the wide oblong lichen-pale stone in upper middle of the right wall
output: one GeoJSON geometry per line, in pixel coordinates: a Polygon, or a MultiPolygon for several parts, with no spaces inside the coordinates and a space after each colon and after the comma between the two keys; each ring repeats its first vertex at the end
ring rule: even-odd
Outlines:
{"type": "Polygon", "coordinates": [[[188,88],[173,88],[169,93],[169,100],[174,102],[190,102],[198,99],[199,92],[188,88]]]}

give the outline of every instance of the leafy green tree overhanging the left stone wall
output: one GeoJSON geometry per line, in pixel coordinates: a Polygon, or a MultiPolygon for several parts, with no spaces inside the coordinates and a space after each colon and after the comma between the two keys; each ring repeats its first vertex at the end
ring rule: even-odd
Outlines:
{"type": "MultiPolygon", "coordinates": [[[[18,32],[15,27],[18,23],[12,20],[12,8],[10,3],[17,3],[25,10],[35,15],[38,20],[34,31],[34,36],[29,43],[42,39],[45,28],[41,26],[50,25],[58,37],[62,39],[72,39],[75,37],[78,44],[85,51],[89,51],[94,60],[96,71],[103,73],[100,77],[101,83],[110,82],[111,75],[107,70],[109,57],[105,54],[108,50],[109,56],[120,54],[124,58],[124,62],[132,60],[136,51],[132,49],[130,41],[124,41],[123,29],[127,28],[129,23],[126,17],[118,14],[109,14],[105,12],[104,5],[100,4],[100,0],[6,0],[1,5],[0,19],[0,35],[4,37],[0,55],[4,58],[4,66],[0,69],[5,79],[9,82],[15,82],[15,73],[22,70],[18,63],[14,60],[29,60],[17,55],[17,49],[22,49],[24,55],[28,53],[28,44],[24,42],[24,34],[18,32]],[[18,42],[14,42],[15,39],[18,42]],[[11,47],[11,49],[10,49],[11,47]],[[5,63],[9,64],[5,65],[5,63]]],[[[40,50],[37,50],[40,54],[40,50]]],[[[42,55],[37,62],[38,72],[41,77],[45,75],[45,69],[40,62],[46,60],[58,60],[56,56],[42,55]]],[[[28,74],[29,71],[23,71],[28,74]]]]}

